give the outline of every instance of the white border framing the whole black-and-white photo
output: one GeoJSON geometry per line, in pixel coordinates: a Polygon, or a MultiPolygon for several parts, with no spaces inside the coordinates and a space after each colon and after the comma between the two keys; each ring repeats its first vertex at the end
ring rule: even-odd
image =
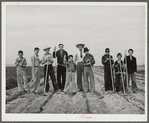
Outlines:
{"type": "Polygon", "coordinates": [[[147,2],[2,2],[2,121],[147,121],[147,2]],[[144,6],[145,7],[145,114],[11,114],[5,112],[6,98],[6,6],[144,6]],[[87,117],[91,117],[88,119],[87,117]]]}

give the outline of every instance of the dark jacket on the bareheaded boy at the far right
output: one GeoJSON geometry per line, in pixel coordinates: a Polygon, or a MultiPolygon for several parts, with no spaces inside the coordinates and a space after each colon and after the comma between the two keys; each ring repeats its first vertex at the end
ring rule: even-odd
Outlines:
{"type": "MultiPolygon", "coordinates": [[[[137,72],[137,60],[136,60],[136,58],[134,56],[132,56],[132,60],[131,60],[130,56],[127,56],[126,59],[127,59],[128,73],[137,72]]],[[[126,64],[125,59],[124,59],[124,63],[126,64]]]]}

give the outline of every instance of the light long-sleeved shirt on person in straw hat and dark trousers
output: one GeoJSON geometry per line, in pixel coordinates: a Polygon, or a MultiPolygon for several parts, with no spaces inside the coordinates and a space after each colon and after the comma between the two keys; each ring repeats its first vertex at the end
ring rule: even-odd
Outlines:
{"type": "Polygon", "coordinates": [[[43,57],[42,57],[42,64],[46,65],[50,65],[50,64],[53,64],[53,57],[50,53],[48,54],[44,54],[43,57]],[[47,61],[47,59],[49,58],[49,60],[47,61]]]}

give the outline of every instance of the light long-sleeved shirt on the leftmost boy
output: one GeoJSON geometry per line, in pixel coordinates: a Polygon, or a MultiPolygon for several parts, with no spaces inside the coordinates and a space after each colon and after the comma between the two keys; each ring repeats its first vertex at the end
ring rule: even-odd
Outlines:
{"type": "Polygon", "coordinates": [[[26,58],[22,57],[18,57],[15,61],[15,65],[17,67],[17,72],[19,72],[20,70],[25,70],[25,67],[27,65],[27,61],[26,58]]]}

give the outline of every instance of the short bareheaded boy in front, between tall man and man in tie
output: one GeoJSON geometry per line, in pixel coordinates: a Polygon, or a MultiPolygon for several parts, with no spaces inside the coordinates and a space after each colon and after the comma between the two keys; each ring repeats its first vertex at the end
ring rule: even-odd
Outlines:
{"type": "Polygon", "coordinates": [[[73,56],[69,55],[69,61],[67,63],[67,81],[65,84],[64,92],[68,94],[74,95],[77,90],[77,84],[75,82],[75,72],[76,72],[76,64],[73,61],[73,56]]]}

